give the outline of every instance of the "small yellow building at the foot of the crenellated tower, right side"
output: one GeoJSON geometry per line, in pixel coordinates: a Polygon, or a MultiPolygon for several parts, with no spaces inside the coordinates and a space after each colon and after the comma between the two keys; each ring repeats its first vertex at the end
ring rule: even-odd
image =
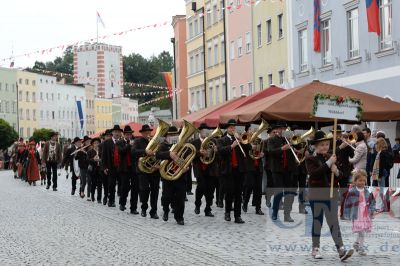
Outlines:
{"type": "Polygon", "coordinates": [[[96,98],[94,107],[96,133],[112,128],[112,100],[96,98]]]}

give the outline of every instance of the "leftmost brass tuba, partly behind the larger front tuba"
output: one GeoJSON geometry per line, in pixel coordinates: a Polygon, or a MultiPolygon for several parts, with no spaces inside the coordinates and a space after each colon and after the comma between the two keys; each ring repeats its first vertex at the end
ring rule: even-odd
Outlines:
{"type": "MultiPolygon", "coordinates": [[[[162,121],[161,119],[157,120],[158,120],[158,127],[156,133],[146,146],[146,150],[150,150],[153,152],[157,151],[158,146],[162,142],[161,137],[163,137],[168,132],[169,129],[168,123],[162,121]]],[[[151,174],[158,169],[160,163],[161,160],[157,160],[154,156],[144,156],[139,159],[138,168],[143,173],[151,174]]]]}

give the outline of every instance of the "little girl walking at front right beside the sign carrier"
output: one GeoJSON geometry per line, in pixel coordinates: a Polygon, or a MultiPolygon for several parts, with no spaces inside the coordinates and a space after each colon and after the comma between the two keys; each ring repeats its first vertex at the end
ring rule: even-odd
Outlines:
{"type": "Polygon", "coordinates": [[[364,249],[364,238],[366,232],[371,232],[372,215],[375,211],[375,200],[365,187],[367,183],[367,172],[356,169],[352,172],[353,187],[350,189],[345,201],[344,216],[353,221],[353,233],[357,233],[354,249],[358,254],[367,255],[364,249]]]}

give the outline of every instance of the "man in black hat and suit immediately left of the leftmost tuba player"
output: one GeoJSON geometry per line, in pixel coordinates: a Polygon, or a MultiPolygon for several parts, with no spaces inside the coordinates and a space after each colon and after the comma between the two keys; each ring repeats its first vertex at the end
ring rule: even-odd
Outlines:
{"type": "MultiPolygon", "coordinates": [[[[131,190],[131,182],[133,181],[133,160],[132,160],[132,133],[133,130],[129,125],[124,127],[124,136],[118,141],[118,149],[122,159],[122,166],[119,171],[120,183],[118,183],[118,190],[120,191],[119,197],[119,208],[121,211],[125,210],[126,201],[128,198],[129,191],[131,190]]],[[[132,193],[133,194],[133,193],[132,193]]],[[[131,212],[136,211],[137,205],[137,194],[136,194],[136,204],[132,206],[131,194],[131,212]]],[[[137,211],[136,211],[137,212],[137,211]]]]}

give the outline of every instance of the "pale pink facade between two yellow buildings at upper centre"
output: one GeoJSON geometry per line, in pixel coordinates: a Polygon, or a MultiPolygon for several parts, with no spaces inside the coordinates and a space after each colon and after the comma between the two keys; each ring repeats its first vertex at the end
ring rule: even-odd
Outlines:
{"type": "Polygon", "coordinates": [[[235,8],[226,11],[229,99],[254,93],[251,8],[242,0],[239,12],[238,2],[231,1],[235,8]]]}

